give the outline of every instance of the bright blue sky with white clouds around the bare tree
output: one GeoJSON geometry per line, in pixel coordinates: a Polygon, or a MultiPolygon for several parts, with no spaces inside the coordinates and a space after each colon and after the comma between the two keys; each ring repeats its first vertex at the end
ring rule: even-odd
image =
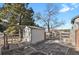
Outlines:
{"type": "MultiPolygon", "coordinates": [[[[0,4],[0,7],[3,4],[0,4]]],[[[32,7],[35,13],[41,12],[44,14],[46,10],[46,3],[30,3],[29,7],[32,7]]],[[[58,27],[58,29],[71,29],[72,24],[71,20],[73,17],[79,15],[79,4],[78,3],[54,3],[59,10],[56,15],[58,20],[64,21],[64,25],[58,27]]],[[[42,26],[42,22],[37,22],[40,26],[42,26]]]]}

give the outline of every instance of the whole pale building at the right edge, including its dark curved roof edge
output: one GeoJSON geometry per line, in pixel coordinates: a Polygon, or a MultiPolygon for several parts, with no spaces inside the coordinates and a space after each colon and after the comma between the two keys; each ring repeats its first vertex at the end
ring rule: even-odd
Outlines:
{"type": "Polygon", "coordinates": [[[72,19],[72,44],[79,50],[79,16],[72,19]]]}

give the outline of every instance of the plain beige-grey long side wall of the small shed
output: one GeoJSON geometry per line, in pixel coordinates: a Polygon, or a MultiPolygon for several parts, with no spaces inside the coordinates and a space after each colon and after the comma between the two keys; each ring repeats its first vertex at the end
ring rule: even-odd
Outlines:
{"type": "Polygon", "coordinates": [[[32,39],[31,42],[33,44],[40,42],[42,40],[44,40],[44,33],[45,31],[42,29],[32,29],[32,39]]]}

